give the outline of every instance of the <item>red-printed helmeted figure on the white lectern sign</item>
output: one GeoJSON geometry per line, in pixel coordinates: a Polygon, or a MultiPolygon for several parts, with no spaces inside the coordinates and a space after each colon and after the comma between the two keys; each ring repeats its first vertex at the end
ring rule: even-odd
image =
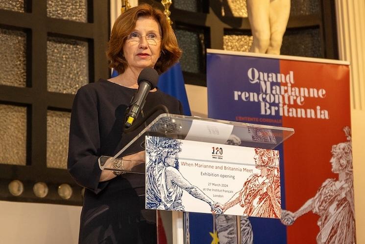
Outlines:
{"type": "Polygon", "coordinates": [[[240,204],[243,215],[254,217],[281,217],[279,152],[255,148],[254,160],[260,174],[252,174],[243,183],[242,190],[221,207],[223,212],[240,204]]]}

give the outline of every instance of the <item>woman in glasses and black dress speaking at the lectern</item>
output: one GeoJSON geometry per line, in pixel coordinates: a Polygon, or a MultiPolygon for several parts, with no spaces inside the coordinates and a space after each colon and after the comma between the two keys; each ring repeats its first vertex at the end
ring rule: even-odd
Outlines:
{"type": "MultiPolygon", "coordinates": [[[[154,244],[156,213],[145,210],[145,176],[101,170],[100,165],[111,161],[107,156],[119,152],[158,115],[133,132],[123,132],[124,114],[138,88],[141,71],[151,67],[161,74],[177,62],[181,50],[165,15],[143,4],[118,17],[107,55],[110,67],[120,75],[81,87],[73,102],[68,169],[86,189],[79,243],[154,244]]],[[[182,112],[178,100],[154,88],[135,124],[161,104],[171,113],[182,112]]],[[[141,150],[132,148],[122,155],[128,162],[122,165],[124,169],[135,166],[131,162],[144,162],[141,150]]]]}

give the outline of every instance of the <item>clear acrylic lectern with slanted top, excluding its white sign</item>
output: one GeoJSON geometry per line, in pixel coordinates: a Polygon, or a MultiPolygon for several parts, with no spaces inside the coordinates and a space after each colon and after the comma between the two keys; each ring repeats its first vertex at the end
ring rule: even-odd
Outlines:
{"type": "MultiPolygon", "coordinates": [[[[169,137],[175,139],[189,139],[201,142],[213,142],[221,144],[231,144],[245,147],[257,147],[264,149],[274,149],[283,141],[294,134],[292,128],[275,127],[267,125],[257,125],[209,118],[184,116],[177,114],[160,114],[149,125],[146,126],[137,136],[135,136],[113,159],[118,159],[123,155],[129,155],[144,150],[145,136],[169,137]],[[196,130],[197,126],[198,130],[196,130]],[[226,135],[224,141],[219,138],[221,128],[227,128],[230,135],[226,135]],[[200,128],[200,129],[199,129],[200,128]],[[232,129],[232,130],[231,130],[232,129]]],[[[221,135],[220,135],[221,136],[221,135]]],[[[132,162],[138,166],[131,169],[116,169],[112,165],[105,165],[104,170],[122,171],[126,173],[145,174],[144,162],[132,162]]],[[[159,211],[157,228],[164,226],[166,240],[168,244],[188,244],[186,240],[189,236],[189,217],[184,217],[182,212],[159,211]],[[172,227],[172,228],[171,228],[172,227]]],[[[215,222],[215,221],[213,221],[215,222]]],[[[212,226],[212,232],[214,226],[212,226]]],[[[158,233],[160,231],[157,231],[158,233]]],[[[159,239],[159,237],[157,237],[159,239]]],[[[239,238],[238,238],[239,239],[239,238]]]]}

